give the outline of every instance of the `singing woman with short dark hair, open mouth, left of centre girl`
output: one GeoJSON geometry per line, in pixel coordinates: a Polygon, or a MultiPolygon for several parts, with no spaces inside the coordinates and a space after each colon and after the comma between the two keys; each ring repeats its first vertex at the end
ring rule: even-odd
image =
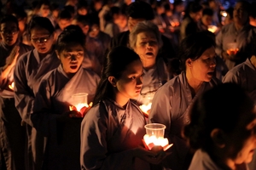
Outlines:
{"type": "Polygon", "coordinates": [[[67,26],[61,32],[56,43],[56,53],[61,65],[45,75],[40,82],[32,123],[33,127],[47,137],[44,141],[44,169],[75,170],[80,169],[82,118],[77,117],[77,111],[70,111],[70,106],[76,106],[73,94],[88,94],[89,104],[94,98],[100,77],[81,66],[85,53],[85,36],[79,26],[67,26]]]}

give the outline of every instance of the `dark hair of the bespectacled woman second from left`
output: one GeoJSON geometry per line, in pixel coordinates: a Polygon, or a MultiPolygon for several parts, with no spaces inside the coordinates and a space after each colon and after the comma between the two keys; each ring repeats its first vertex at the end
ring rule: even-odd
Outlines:
{"type": "Polygon", "coordinates": [[[44,28],[47,31],[49,31],[49,34],[52,34],[55,31],[54,26],[52,26],[52,23],[50,20],[46,17],[41,16],[35,16],[33,17],[30,22],[28,23],[28,32],[31,34],[31,31],[35,27],[44,28]]]}

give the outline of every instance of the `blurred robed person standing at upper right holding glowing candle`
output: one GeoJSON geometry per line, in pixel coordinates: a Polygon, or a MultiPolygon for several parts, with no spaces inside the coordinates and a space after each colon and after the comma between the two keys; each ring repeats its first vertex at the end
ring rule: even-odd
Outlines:
{"type": "Polygon", "coordinates": [[[247,1],[237,2],[233,11],[234,22],[223,26],[216,37],[216,54],[224,59],[229,70],[251,54],[249,44],[256,35],[256,28],[249,24],[250,9],[247,1]]]}

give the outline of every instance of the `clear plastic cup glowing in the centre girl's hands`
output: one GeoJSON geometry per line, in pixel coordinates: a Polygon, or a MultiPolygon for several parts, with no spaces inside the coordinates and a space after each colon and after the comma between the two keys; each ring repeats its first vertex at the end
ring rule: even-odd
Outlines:
{"type": "Polygon", "coordinates": [[[149,137],[164,138],[166,126],[160,123],[149,123],[144,126],[149,137]]]}

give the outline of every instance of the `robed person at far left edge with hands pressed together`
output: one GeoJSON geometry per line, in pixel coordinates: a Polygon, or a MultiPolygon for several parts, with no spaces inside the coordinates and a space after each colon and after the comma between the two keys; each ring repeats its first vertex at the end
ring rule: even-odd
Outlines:
{"type": "Polygon", "coordinates": [[[19,24],[14,15],[0,20],[0,169],[25,170],[26,128],[15,108],[14,70],[17,60],[32,47],[19,40],[19,24]]]}

